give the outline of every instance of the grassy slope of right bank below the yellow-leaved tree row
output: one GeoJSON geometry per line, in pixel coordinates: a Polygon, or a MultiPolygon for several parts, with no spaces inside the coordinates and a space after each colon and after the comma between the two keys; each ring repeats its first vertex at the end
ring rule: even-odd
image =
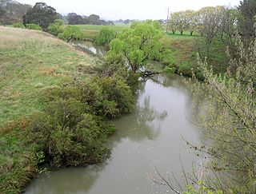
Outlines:
{"type": "MultiPolygon", "coordinates": [[[[166,34],[162,38],[162,43],[172,50],[173,65],[178,68],[178,72],[188,76],[191,76],[191,68],[197,68],[197,53],[200,53],[202,57],[206,55],[203,38],[196,33],[193,36],[186,31],[183,35],[179,32],[166,34]]],[[[228,65],[226,47],[217,38],[210,46],[208,64],[213,66],[215,73],[226,72],[228,65]]]]}

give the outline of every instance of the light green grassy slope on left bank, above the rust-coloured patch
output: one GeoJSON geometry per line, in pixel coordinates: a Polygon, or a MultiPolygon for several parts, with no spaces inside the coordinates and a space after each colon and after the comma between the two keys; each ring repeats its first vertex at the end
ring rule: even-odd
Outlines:
{"type": "Polygon", "coordinates": [[[39,93],[89,64],[66,43],[34,30],[0,27],[0,122],[41,110],[39,93]]]}

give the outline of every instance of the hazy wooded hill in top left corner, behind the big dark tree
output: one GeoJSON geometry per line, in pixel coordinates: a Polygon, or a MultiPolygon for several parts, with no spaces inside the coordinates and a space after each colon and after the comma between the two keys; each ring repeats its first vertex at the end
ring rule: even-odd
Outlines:
{"type": "Polygon", "coordinates": [[[12,0],[0,0],[0,24],[22,22],[22,16],[32,6],[12,0]]]}

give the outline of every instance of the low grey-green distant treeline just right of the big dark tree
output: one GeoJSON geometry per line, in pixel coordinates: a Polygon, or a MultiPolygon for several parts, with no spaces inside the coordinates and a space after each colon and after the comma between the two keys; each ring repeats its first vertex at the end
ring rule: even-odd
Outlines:
{"type": "Polygon", "coordinates": [[[113,22],[106,22],[96,14],[91,14],[90,16],[82,16],[76,13],[70,13],[70,14],[67,14],[67,16],[64,18],[66,19],[66,22],[68,22],[70,25],[90,24],[90,25],[113,25],[114,26],[113,22]]]}

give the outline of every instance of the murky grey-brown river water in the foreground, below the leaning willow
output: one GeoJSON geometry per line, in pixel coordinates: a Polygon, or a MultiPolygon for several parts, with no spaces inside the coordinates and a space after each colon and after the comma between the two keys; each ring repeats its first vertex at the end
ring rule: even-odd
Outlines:
{"type": "MultiPolygon", "coordinates": [[[[26,193],[166,193],[168,188],[150,179],[154,168],[182,185],[182,165],[190,172],[197,160],[186,142],[198,143],[200,129],[192,125],[194,97],[176,75],[157,75],[142,81],[134,113],[114,121],[118,132],[110,137],[110,159],[87,168],[66,168],[42,174],[26,193]],[[166,190],[167,189],[167,190],[166,190]]],[[[200,101],[200,99],[196,99],[200,101]]]]}

